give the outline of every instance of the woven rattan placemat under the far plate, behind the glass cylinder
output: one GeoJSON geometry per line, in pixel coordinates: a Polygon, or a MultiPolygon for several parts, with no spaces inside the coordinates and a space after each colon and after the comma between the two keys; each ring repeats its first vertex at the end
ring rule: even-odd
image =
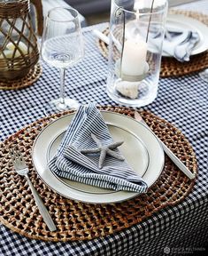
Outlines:
{"type": "MultiPolygon", "coordinates": [[[[208,26],[208,15],[199,12],[171,11],[172,14],[182,14],[203,22],[208,26]]],[[[108,36],[109,28],[105,28],[104,35],[108,36]]],[[[102,40],[97,41],[98,48],[105,58],[108,56],[108,46],[102,40]]],[[[188,62],[180,62],[170,57],[163,57],[161,61],[160,77],[184,76],[208,68],[208,51],[190,57],[188,62]]]]}

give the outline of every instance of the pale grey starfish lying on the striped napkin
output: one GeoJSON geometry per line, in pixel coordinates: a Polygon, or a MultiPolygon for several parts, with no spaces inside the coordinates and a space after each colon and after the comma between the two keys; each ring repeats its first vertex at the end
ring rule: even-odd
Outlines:
{"type": "Polygon", "coordinates": [[[90,154],[90,153],[100,152],[99,165],[98,165],[100,169],[104,166],[104,159],[106,155],[117,158],[120,161],[124,161],[125,158],[123,156],[120,156],[115,151],[112,151],[112,149],[118,148],[121,144],[123,144],[124,141],[113,142],[111,144],[103,146],[100,140],[96,138],[95,134],[91,133],[91,137],[96,142],[97,148],[82,149],[81,153],[90,154]]]}

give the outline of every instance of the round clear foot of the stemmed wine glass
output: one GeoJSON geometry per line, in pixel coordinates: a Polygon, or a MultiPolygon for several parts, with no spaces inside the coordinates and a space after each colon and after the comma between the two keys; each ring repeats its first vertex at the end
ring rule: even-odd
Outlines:
{"type": "Polygon", "coordinates": [[[59,113],[65,110],[75,110],[79,108],[80,103],[77,100],[65,98],[65,103],[62,103],[62,99],[51,100],[44,108],[44,114],[46,116],[54,113],[59,113]]]}

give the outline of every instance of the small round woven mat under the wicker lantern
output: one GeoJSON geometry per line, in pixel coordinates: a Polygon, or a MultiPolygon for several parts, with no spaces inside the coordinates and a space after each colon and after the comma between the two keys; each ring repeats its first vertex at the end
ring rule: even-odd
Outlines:
{"type": "Polygon", "coordinates": [[[18,90],[25,88],[35,83],[35,81],[42,75],[41,64],[37,63],[34,68],[31,68],[27,76],[17,80],[0,80],[0,89],[2,90],[18,90]]]}

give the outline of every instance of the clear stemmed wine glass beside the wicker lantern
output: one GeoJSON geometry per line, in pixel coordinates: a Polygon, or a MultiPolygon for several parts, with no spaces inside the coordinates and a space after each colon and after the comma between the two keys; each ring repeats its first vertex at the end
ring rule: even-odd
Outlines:
{"type": "Polygon", "coordinates": [[[56,7],[48,12],[41,44],[42,60],[60,70],[59,98],[51,100],[45,113],[78,108],[77,100],[65,97],[65,70],[83,59],[84,46],[78,12],[56,7]]]}

